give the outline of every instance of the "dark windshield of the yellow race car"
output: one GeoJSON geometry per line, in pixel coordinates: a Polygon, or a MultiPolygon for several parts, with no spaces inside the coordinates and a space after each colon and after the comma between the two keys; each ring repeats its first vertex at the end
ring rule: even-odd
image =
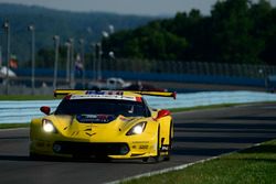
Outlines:
{"type": "Polygon", "coordinates": [[[148,108],[138,101],[110,99],[62,100],[55,115],[112,115],[125,117],[149,117],[148,108]]]}

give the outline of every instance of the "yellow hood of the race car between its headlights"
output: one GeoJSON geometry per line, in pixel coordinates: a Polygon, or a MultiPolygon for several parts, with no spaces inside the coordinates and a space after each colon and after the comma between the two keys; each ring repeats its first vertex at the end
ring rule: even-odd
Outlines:
{"type": "MultiPolygon", "coordinates": [[[[89,118],[89,117],[88,117],[89,118]]],[[[107,122],[89,122],[86,118],[79,116],[52,116],[50,118],[61,133],[66,139],[74,141],[119,141],[123,134],[126,134],[132,126],[138,122],[147,121],[145,117],[107,117],[107,122]]]]}

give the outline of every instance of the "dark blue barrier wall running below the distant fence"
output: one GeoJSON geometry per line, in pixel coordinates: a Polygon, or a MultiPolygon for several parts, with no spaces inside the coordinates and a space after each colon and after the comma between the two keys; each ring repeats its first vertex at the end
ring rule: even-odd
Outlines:
{"type": "MultiPolygon", "coordinates": [[[[31,69],[18,69],[18,76],[30,76],[31,69]]],[[[93,72],[86,71],[86,79],[93,79],[93,72]]],[[[59,71],[59,77],[65,78],[66,72],[59,71]]],[[[235,76],[212,76],[212,75],[193,75],[193,74],[170,74],[170,73],[142,73],[142,72],[124,72],[124,71],[102,71],[103,78],[121,77],[126,80],[153,80],[153,82],[178,82],[178,83],[205,83],[219,85],[238,85],[238,86],[265,86],[264,78],[248,78],[235,76]]],[[[35,71],[35,76],[53,77],[53,69],[35,71]]],[[[77,74],[75,75],[78,76],[77,74]]],[[[78,76],[81,78],[81,76],[78,76]]]]}

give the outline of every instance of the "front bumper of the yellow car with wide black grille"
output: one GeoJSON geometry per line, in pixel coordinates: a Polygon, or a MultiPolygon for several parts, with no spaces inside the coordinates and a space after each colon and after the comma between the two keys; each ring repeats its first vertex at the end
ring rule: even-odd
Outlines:
{"type": "Polygon", "coordinates": [[[129,142],[74,142],[74,141],[31,141],[30,153],[52,156],[108,156],[110,159],[138,159],[155,156],[156,141],[129,142]]]}

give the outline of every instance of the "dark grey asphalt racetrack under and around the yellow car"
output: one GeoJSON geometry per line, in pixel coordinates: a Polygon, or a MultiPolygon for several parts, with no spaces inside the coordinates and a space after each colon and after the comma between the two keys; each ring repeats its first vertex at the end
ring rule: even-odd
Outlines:
{"type": "Polygon", "coordinates": [[[276,104],[178,112],[171,161],[32,161],[29,129],[0,130],[0,184],[107,183],[245,149],[276,138],[276,104]]]}

